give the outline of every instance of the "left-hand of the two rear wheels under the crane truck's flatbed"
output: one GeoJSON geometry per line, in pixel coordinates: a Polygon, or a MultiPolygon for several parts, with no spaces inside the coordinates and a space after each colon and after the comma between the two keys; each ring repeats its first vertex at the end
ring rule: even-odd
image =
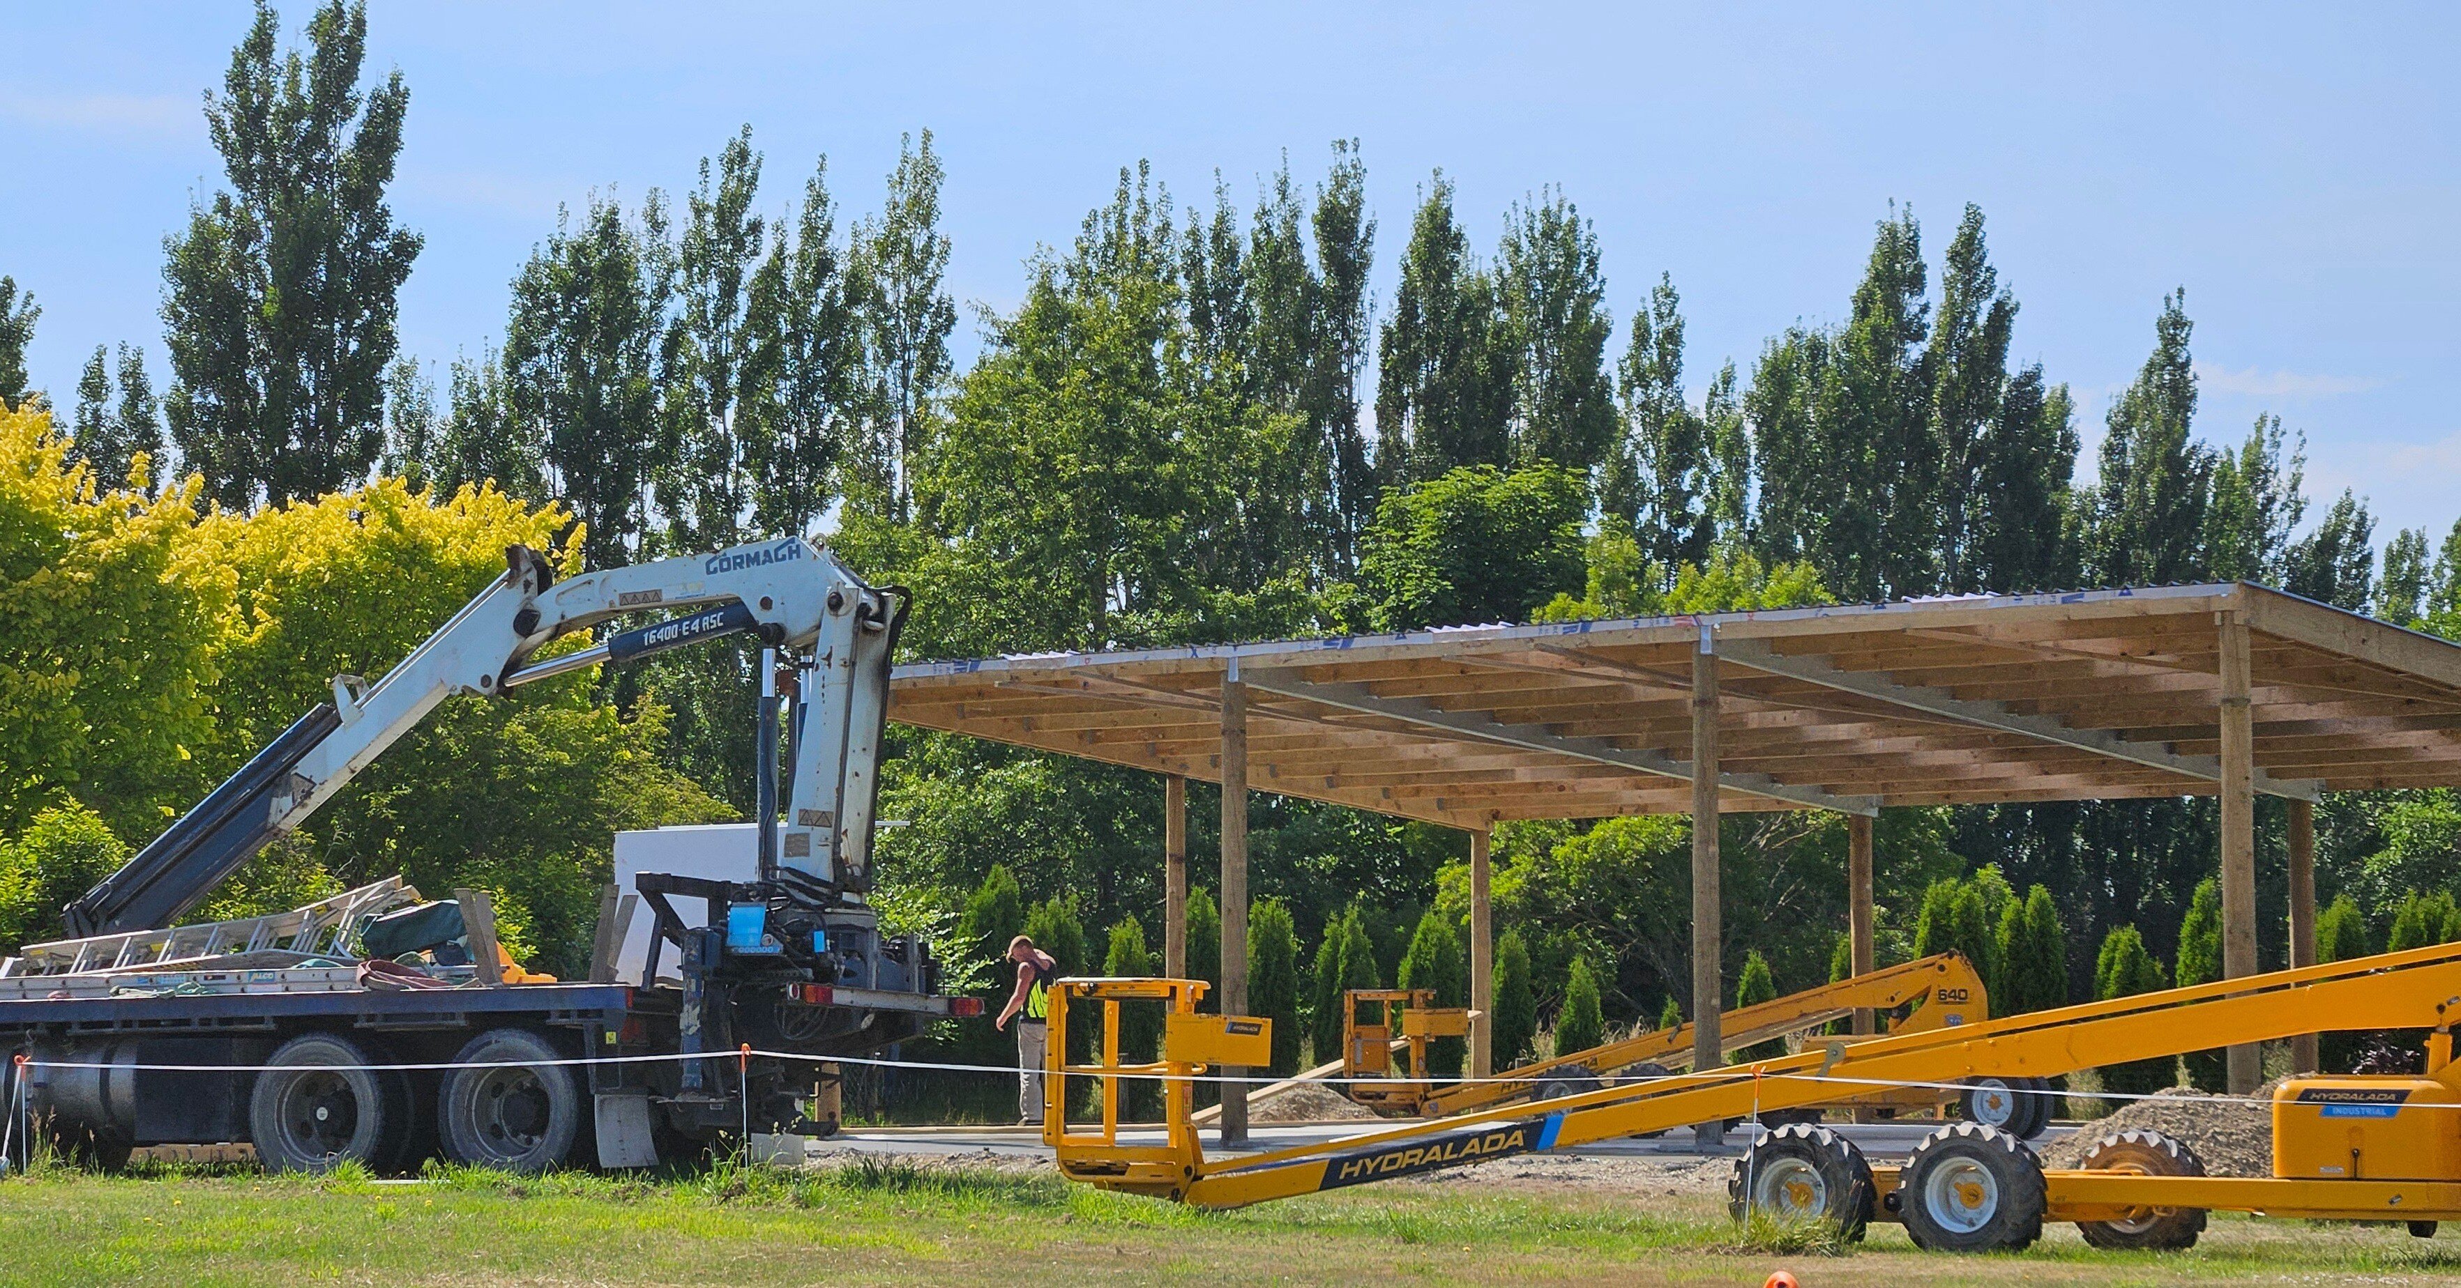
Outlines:
{"type": "Polygon", "coordinates": [[[399,1165],[411,1136],[409,1082],[369,1069],[367,1047],[332,1032],[303,1032],[266,1057],[249,1091],[249,1141],[268,1172],[327,1172],[342,1160],[399,1165]]]}

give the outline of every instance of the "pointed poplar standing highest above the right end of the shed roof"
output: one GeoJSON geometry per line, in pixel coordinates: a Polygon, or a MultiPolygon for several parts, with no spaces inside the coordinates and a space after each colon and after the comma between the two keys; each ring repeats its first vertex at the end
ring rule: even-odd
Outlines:
{"type": "Polygon", "coordinates": [[[2195,359],[2188,293],[2163,297],[2153,354],[2112,403],[2087,528],[2087,573],[2102,585],[2200,575],[2212,450],[2190,438],[2195,359]]]}

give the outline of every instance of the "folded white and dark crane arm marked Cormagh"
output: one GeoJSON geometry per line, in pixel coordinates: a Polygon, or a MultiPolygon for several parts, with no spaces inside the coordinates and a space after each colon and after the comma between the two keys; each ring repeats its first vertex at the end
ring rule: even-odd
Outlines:
{"type": "Polygon", "coordinates": [[[898,617],[903,597],[866,585],[802,538],[605,568],[561,583],[544,556],[512,546],[505,573],[384,678],[335,676],[332,703],[300,715],[118,873],[71,902],[69,934],[172,924],[268,841],[308,821],[445,698],[492,698],[581,666],[635,661],[743,632],[810,659],[797,718],[812,725],[817,713],[820,723],[795,740],[795,806],[815,823],[800,828],[800,838],[790,831],[785,853],[805,875],[842,882],[832,860],[849,855],[859,865],[869,848],[879,723],[886,718],[898,617]],[[672,607],[704,612],[529,661],[564,634],[672,607]],[[871,720],[869,732],[861,720],[871,720]],[[849,806],[849,784],[861,791],[859,809],[849,806]],[[812,836],[822,816],[829,819],[824,841],[812,836]],[[842,819],[861,828],[861,841],[842,836],[842,819]]]}

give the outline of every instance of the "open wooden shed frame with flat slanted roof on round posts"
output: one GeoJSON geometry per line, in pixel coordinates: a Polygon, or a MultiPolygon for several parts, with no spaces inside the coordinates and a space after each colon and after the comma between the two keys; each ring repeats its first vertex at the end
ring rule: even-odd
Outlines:
{"type": "MultiPolygon", "coordinates": [[[[1472,995],[1506,819],[1831,809],[1870,944],[1880,806],[2217,794],[2225,973],[2257,968],[2254,796],[2291,801],[2291,961],[2313,961],[2318,791],[2461,784],[2461,646],[2222,583],[1440,627],[898,666],[891,718],[1149,769],[1164,959],[1184,971],[1186,779],[1223,791],[1223,1005],[1245,1005],[1245,791],[1464,828],[1472,995]],[[1233,946],[1238,946],[1233,951],[1233,946]]],[[[1693,991],[1720,995],[1718,828],[1693,828],[1693,991]]],[[[1701,1005],[1701,1067],[1718,1064],[1701,1005]]],[[[1472,1067],[1489,1069],[1486,1025],[1472,1067]]],[[[2301,1047],[2313,1067],[2313,1042],[2301,1047]]],[[[2232,1050],[2232,1089],[2257,1052],[2232,1050]]],[[[1233,1118],[1226,1113],[1226,1131],[1233,1118]]]]}

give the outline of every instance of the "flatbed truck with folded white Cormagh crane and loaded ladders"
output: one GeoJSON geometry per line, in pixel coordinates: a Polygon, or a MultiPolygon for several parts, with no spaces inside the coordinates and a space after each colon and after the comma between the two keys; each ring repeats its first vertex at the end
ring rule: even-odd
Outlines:
{"type": "Polygon", "coordinates": [[[303,1170],[404,1168],[431,1141],[517,1170],[647,1165],[728,1128],[827,1131],[827,1113],[812,1118],[832,1091],[817,1086],[820,1059],[979,1010],[935,995],[925,944],[883,934],[864,900],[908,602],[802,538],[561,580],[512,546],[505,573],[391,671],[335,676],[330,703],[71,902],[74,939],[0,961],[0,1052],[30,1057],[34,1116],[103,1163],[135,1145],[246,1138],[268,1168],[303,1170]],[[632,615],[664,617],[551,649],[632,615]],[[724,880],[640,873],[625,900],[610,890],[591,981],[490,988],[500,964],[482,900],[406,907],[418,895],[399,878],[295,914],[175,927],[438,703],[738,634],[760,639],[751,843],[724,880]],[[655,917],[650,961],[618,981],[610,954],[640,905],[655,917]],[[455,951],[473,961],[438,966],[455,951]]]}

